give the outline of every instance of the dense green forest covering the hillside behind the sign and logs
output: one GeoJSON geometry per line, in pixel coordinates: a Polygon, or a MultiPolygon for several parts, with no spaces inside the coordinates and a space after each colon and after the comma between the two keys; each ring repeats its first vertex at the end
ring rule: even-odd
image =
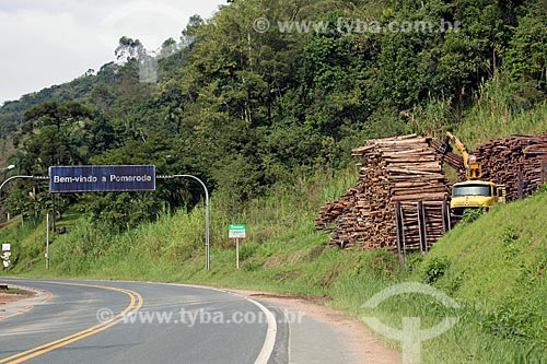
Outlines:
{"type": "MultiPolygon", "coordinates": [[[[199,176],[241,209],[275,184],[345,167],[365,139],[439,137],[485,92],[502,89],[513,114],[546,103],[545,0],[271,4],[234,0],[209,20],[193,16],[156,59],[127,34],[118,61],[5,103],[0,133],[13,142],[13,173],[153,164],[158,174],[199,176]],[[146,62],[158,66],[158,82],[142,79],[146,62]]],[[[155,193],[74,195],[57,203],[124,228],[191,207],[200,193],[191,181],[170,180],[155,193]]],[[[50,203],[47,186],[22,183],[8,209],[32,216],[50,203]]]]}

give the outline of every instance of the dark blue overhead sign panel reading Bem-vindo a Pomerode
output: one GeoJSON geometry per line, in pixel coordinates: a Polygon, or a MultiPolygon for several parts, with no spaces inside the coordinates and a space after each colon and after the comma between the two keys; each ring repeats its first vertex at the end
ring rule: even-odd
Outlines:
{"type": "Polygon", "coordinates": [[[81,165],[49,167],[49,191],[129,192],[154,191],[153,165],[81,165]]]}

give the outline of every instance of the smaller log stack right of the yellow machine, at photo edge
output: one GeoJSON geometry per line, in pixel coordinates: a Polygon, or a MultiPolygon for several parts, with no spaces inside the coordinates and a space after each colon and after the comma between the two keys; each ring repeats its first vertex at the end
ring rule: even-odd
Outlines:
{"type": "Polygon", "coordinates": [[[479,145],[474,154],[482,163],[481,179],[505,185],[508,201],[519,198],[520,179],[523,196],[547,181],[547,134],[492,140],[479,145]]]}

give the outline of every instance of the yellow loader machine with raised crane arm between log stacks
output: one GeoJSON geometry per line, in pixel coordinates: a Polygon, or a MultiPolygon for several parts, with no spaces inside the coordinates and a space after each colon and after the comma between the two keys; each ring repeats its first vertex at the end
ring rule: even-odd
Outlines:
{"type": "Polygon", "coordinates": [[[505,202],[505,187],[492,181],[480,180],[482,165],[477,157],[469,154],[467,148],[452,132],[446,131],[446,139],[439,148],[439,152],[446,154],[452,150],[450,142],[454,143],[464,158],[466,181],[454,184],[450,209],[453,215],[462,216],[467,209],[487,211],[496,202],[505,202]]]}

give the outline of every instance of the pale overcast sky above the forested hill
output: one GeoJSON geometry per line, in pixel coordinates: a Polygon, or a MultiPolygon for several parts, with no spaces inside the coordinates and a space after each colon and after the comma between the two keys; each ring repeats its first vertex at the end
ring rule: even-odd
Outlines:
{"type": "Polygon", "coordinates": [[[0,0],[0,105],[115,60],[121,36],[147,50],[225,0],[0,0]]]}

